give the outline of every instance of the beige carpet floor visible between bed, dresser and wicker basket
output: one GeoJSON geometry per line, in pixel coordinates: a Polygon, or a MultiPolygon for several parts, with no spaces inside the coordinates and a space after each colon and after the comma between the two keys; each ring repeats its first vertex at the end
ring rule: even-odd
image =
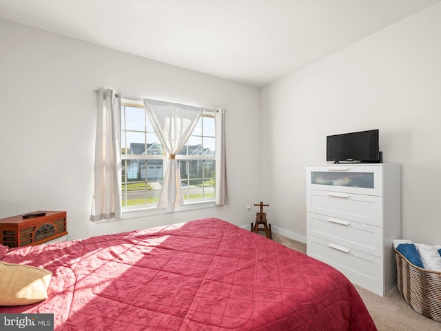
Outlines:
{"type": "MultiPolygon", "coordinates": [[[[305,243],[291,240],[273,233],[274,241],[289,248],[306,253],[305,243]]],[[[378,331],[441,331],[441,323],[424,317],[411,308],[395,288],[386,297],[380,297],[356,285],[360,297],[378,331]]]]}

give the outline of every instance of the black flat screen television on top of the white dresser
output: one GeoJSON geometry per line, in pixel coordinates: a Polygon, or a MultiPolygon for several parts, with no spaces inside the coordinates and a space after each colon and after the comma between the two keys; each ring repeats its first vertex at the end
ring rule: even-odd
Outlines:
{"type": "Polygon", "coordinates": [[[379,130],[367,130],[326,137],[326,161],[380,163],[379,130]]]}

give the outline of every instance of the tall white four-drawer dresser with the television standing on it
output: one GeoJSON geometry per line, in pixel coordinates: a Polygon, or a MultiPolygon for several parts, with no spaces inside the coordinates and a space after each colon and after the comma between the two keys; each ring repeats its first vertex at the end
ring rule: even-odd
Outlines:
{"type": "Polygon", "coordinates": [[[307,165],[307,254],[384,296],[396,286],[393,239],[401,238],[401,167],[307,165]]]}

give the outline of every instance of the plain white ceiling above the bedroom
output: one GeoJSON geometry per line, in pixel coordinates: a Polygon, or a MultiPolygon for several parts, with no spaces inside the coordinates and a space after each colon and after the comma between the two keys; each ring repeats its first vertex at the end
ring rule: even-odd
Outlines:
{"type": "Polygon", "coordinates": [[[440,0],[0,0],[0,18],[265,86],[440,0]]]}

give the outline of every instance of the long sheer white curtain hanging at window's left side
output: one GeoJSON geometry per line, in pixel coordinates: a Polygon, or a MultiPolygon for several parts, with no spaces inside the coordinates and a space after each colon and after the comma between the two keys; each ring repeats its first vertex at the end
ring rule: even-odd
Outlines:
{"type": "Polygon", "coordinates": [[[121,219],[121,98],[113,90],[96,93],[94,193],[91,221],[121,219]]]}

